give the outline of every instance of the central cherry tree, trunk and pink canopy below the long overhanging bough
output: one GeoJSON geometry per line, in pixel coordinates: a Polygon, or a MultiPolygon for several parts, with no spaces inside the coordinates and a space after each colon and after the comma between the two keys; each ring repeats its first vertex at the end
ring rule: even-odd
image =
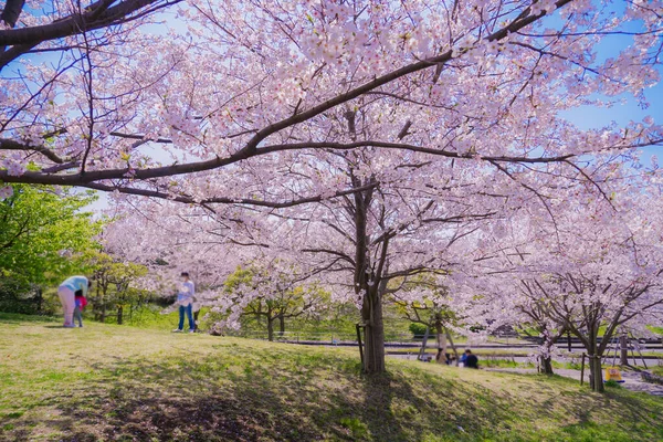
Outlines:
{"type": "MultiPolygon", "coordinates": [[[[336,285],[337,292],[348,293],[360,308],[368,372],[385,369],[386,296],[399,292],[411,277],[446,269],[454,248],[504,202],[503,198],[482,196],[487,173],[482,173],[481,165],[472,177],[466,171],[456,172],[451,162],[425,164],[417,155],[399,158],[367,149],[297,168],[283,190],[271,180],[271,190],[277,193],[344,181],[356,190],[317,203],[272,210],[271,215],[280,221],[263,232],[259,243],[271,244],[274,250],[270,253],[297,256],[299,265],[327,275],[325,281],[336,285]],[[418,172],[412,173],[412,168],[418,172]]],[[[508,180],[506,176],[491,177],[495,183],[508,180]]]]}

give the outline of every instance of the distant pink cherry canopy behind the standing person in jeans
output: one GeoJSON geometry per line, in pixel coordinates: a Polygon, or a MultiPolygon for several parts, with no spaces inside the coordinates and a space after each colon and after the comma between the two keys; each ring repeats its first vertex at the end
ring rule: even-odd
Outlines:
{"type": "MultiPolygon", "coordinates": [[[[143,287],[164,298],[177,293],[181,272],[188,272],[197,292],[222,287],[238,265],[252,255],[227,244],[227,230],[204,209],[164,201],[116,201],[101,235],[115,260],[149,270],[143,287]]],[[[202,301],[202,299],[201,299],[202,301]]],[[[201,303],[194,303],[194,309],[201,303]]]]}

